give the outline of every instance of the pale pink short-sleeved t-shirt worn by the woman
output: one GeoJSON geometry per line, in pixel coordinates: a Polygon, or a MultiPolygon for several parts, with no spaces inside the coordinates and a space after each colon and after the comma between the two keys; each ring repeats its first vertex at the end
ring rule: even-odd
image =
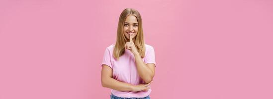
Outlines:
{"type": "MultiPolygon", "coordinates": [[[[154,63],[156,65],[154,48],[146,44],[145,47],[145,56],[142,58],[144,63],[154,63]]],[[[101,65],[105,64],[112,68],[112,78],[132,85],[144,84],[144,81],[137,73],[134,54],[130,50],[125,49],[124,54],[119,57],[119,60],[116,60],[113,57],[113,50],[114,44],[105,49],[101,63],[101,65]]],[[[151,91],[151,89],[147,92],[121,92],[112,90],[112,94],[122,98],[144,98],[149,96],[151,91]]]]}

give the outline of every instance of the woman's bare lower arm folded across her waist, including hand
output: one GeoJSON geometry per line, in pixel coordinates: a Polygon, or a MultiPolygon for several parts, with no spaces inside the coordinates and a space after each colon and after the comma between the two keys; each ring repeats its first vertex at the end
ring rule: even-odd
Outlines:
{"type": "Polygon", "coordinates": [[[148,91],[149,84],[131,85],[120,82],[112,78],[112,69],[107,65],[102,65],[101,69],[101,85],[117,91],[148,91]]]}

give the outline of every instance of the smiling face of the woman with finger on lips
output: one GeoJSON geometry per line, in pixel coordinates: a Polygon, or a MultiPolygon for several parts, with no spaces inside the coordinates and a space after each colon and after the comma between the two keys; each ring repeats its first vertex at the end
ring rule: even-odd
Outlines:
{"type": "Polygon", "coordinates": [[[133,15],[129,15],[126,17],[125,22],[123,24],[123,34],[127,39],[130,39],[130,33],[132,33],[132,38],[134,39],[138,32],[138,22],[137,18],[133,15]]]}

